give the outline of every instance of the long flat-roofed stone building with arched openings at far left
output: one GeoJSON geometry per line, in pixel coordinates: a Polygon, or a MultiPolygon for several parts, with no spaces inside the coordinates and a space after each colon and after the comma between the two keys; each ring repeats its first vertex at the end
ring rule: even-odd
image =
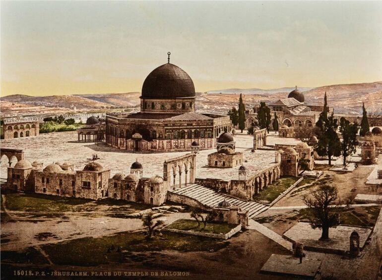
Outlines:
{"type": "Polygon", "coordinates": [[[1,139],[38,136],[39,124],[34,118],[5,119],[1,125],[1,139]]]}

